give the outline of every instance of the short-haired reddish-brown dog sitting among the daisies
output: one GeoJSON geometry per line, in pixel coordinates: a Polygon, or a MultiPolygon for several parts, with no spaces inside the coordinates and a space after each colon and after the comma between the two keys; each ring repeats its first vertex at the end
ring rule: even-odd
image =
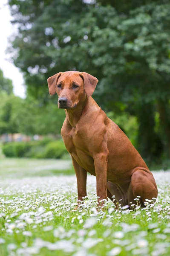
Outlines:
{"type": "Polygon", "coordinates": [[[94,76],[74,71],[48,79],[50,95],[58,94],[58,108],[66,113],[61,135],[72,157],[78,201],[86,196],[89,172],[96,176],[98,202],[115,195],[118,204],[130,206],[140,196],[144,206],[145,199],[157,197],[155,179],[127,136],[92,99],[97,83],[94,76]]]}

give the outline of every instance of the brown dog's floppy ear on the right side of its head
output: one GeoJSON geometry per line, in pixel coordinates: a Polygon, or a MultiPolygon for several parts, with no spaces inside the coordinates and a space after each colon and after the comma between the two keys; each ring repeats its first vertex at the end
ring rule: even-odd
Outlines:
{"type": "Polygon", "coordinates": [[[96,87],[96,85],[98,83],[98,79],[95,78],[92,75],[89,75],[86,72],[82,72],[80,74],[80,76],[82,77],[82,79],[84,81],[84,90],[86,92],[86,95],[87,96],[92,96],[92,94],[93,94],[93,92],[95,90],[95,87],[96,87]]]}

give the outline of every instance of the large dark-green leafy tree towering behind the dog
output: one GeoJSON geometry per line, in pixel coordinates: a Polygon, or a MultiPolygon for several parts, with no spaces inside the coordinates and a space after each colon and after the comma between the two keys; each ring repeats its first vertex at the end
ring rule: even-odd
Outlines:
{"type": "Polygon", "coordinates": [[[48,102],[49,76],[65,70],[91,73],[99,79],[94,96],[104,110],[119,113],[123,105],[137,116],[141,153],[160,156],[161,137],[170,155],[169,0],[9,4],[19,27],[11,51],[17,49],[14,64],[25,74],[29,95],[48,102]],[[157,133],[156,111],[162,126],[157,133]]]}

